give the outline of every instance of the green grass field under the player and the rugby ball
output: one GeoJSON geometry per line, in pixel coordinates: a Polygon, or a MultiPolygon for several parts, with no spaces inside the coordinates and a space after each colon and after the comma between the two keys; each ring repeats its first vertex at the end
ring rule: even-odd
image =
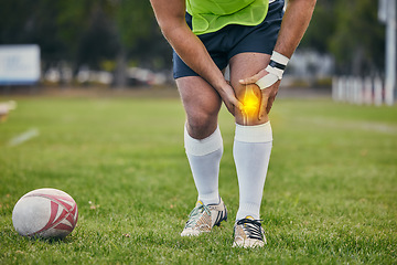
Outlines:
{"type": "Polygon", "coordinates": [[[178,98],[17,102],[0,124],[0,264],[397,263],[397,107],[278,99],[261,208],[268,244],[239,250],[230,247],[238,189],[225,109],[219,189],[229,221],[182,239],[196,191],[178,98]],[[26,131],[36,136],[13,141],[26,131]],[[44,187],[78,204],[64,241],[24,239],[12,226],[18,199],[44,187]]]}

